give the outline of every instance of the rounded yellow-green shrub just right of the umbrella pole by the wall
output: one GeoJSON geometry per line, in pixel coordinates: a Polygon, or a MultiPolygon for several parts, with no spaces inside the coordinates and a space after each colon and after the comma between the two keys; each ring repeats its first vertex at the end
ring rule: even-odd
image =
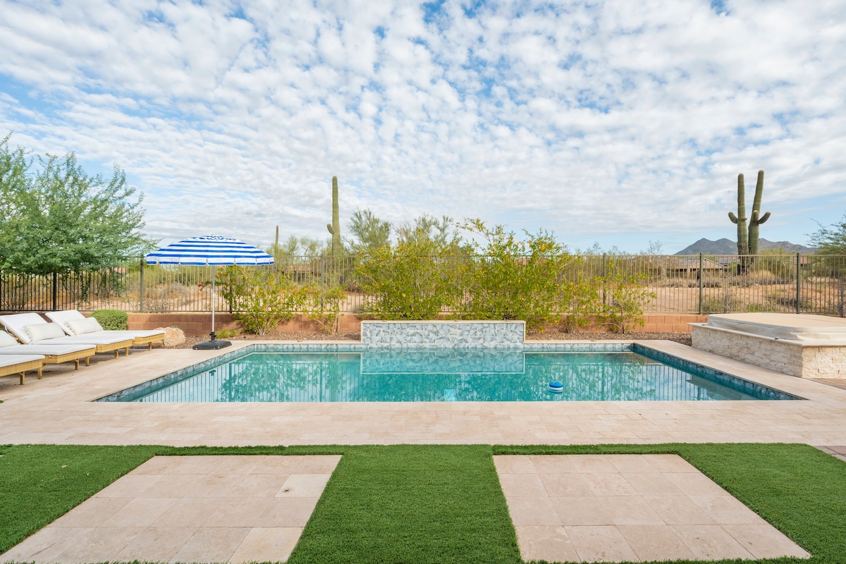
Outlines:
{"type": "Polygon", "coordinates": [[[266,335],[291,319],[305,303],[305,291],[277,269],[227,266],[222,269],[220,282],[233,318],[246,331],[258,335],[266,335]]]}

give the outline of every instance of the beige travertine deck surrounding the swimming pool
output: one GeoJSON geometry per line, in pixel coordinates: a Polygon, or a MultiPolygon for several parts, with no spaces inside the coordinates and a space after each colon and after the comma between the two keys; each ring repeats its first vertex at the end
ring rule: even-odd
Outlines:
{"type": "MultiPolygon", "coordinates": [[[[233,348],[255,341],[233,342],[233,348]]],[[[573,341],[569,341],[573,342],[573,341]]],[[[0,443],[246,446],[294,444],[589,444],[803,442],[846,445],[846,390],[676,342],[651,348],[788,392],[748,402],[91,402],[222,351],[132,349],[90,367],[48,366],[42,380],[0,379],[0,443]]],[[[832,449],[833,450],[833,449],[832,449]]]]}

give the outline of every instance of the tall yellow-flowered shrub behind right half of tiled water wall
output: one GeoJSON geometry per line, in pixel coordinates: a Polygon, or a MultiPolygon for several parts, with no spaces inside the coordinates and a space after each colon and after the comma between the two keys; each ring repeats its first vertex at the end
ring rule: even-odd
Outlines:
{"type": "Polygon", "coordinates": [[[532,330],[558,322],[560,304],[569,301],[572,290],[562,273],[575,259],[552,233],[526,233],[528,238],[519,241],[503,226],[488,228],[478,219],[462,227],[485,240],[472,244],[475,260],[459,269],[462,318],[525,320],[532,330]]]}

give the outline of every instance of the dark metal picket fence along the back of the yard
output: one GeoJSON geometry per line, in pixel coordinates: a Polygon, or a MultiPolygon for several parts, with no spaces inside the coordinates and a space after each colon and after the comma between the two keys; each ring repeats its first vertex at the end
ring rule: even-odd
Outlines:
{"type": "MultiPolygon", "coordinates": [[[[339,285],[341,312],[365,308],[353,256],[283,257],[273,266],[296,284],[339,285]]],[[[654,298],[646,314],[790,312],[844,315],[846,255],[582,255],[563,280],[637,275],[654,298]]],[[[140,259],[101,271],[48,277],[0,273],[0,311],[124,309],[133,312],[211,310],[211,266],[149,266],[140,259]]],[[[217,287],[217,309],[226,302],[217,287]]]]}

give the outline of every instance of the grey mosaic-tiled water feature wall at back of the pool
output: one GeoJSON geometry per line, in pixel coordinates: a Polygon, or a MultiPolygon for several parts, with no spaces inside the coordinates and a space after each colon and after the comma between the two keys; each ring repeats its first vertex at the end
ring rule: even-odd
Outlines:
{"type": "Polygon", "coordinates": [[[393,348],[522,347],[525,321],[362,321],[361,344],[393,348]]]}

